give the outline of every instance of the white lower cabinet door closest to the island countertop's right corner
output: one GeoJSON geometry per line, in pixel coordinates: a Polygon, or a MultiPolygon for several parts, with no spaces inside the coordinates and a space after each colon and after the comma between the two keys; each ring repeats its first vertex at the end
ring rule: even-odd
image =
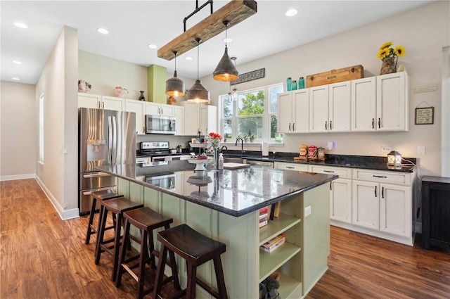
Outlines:
{"type": "Polygon", "coordinates": [[[330,219],[352,223],[352,180],[330,182],[330,219]]]}

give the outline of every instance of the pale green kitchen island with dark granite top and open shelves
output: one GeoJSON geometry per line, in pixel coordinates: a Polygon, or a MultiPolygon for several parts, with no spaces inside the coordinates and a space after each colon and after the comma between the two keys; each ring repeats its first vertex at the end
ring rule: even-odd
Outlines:
{"type": "MultiPolygon", "coordinates": [[[[112,165],[117,189],[132,201],[186,223],[226,244],[222,255],[229,298],[259,298],[259,283],[281,272],[281,298],[303,298],[328,269],[329,182],[337,176],[267,167],[197,171],[186,160],[149,167],[112,165]],[[328,183],[328,184],[327,184],[328,183]],[[281,202],[280,214],[259,228],[259,209],[281,202]],[[271,253],[259,246],[285,233],[286,243],[271,253]]],[[[177,259],[182,286],[186,265],[177,259]]],[[[198,276],[215,287],[211,262],[198,276]]],[[[198,298],[210,298],[198,288],[198,298]]]]}

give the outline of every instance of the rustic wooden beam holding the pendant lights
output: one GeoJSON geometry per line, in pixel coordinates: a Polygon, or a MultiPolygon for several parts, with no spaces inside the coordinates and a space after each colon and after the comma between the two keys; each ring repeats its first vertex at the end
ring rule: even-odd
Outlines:
{"type": "Polygon", "coordinates": [[[224,21],[228,20],[230,23],[228,28],[242,22],[250,15],[257,13],[257,3],[254,0],[232,0],[229,4],[222,6],[218,11],[207,16],[200,23],[194,25],[179,35],[171,42],[165,44],[158,49],[158,57],[171,61],[174,56],[174,51],[177,51],[177,56],[195,48],[197,42],[195,39],[200,38],[200,44],[206,42],[208,39],[215,37],[217,34],[225,31],[224,21]]]}

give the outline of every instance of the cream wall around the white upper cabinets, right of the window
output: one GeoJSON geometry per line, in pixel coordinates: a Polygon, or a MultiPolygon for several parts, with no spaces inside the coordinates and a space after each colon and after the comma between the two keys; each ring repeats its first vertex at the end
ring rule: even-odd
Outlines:
{"type": "MultiPolygon", "coordinates": [[[[266,69],[263,79],[238,84],[237,89],[243,91],[285,82],[287,77],[297,79],[352,65],[363,65],[364,77],[372,77],[380,73],[381,61],[376,54],[383,43],[392,41],[406,49],[399,63],[409,73],[409,132],[285,134],[284,146],[270,150],[297,152],[300,144],[326,146],[326,141],[334,141],[336,148],[328,153],[385,156],[380,147],[391,146],[404,157],[420,158],[421,174],[440,175],[442,48],[450,45],[449,6],[449,1],[437,1],[245,65],[237,63],[240,73],[266,69]],[[414,88],[430,85],[436,85],[437,91],[413,94],[414,88]],[[435,107],[434,125],[414,125],[414,111],[422,101],[435,107]],[[428,152],[417,155],[418,146],[426,146],[428,152]]],[[[301,34],[302,30],[295,32],[301,34]]],[[[228,83],[214,81],[212,76],[201,81],[210,91],[213,105],[221,94],[229,92],[228,83]]]]}

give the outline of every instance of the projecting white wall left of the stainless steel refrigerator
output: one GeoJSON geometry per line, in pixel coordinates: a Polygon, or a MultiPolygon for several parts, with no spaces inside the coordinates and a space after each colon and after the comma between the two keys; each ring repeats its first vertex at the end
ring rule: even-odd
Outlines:
{"type": "Polygon", "coordinates": [[[63,219],[78,217],[77,49],[77,30],[64,27],[36,84],[36,101],[44,94],[44,164],[37,164],[37,177],[63,219]]]}

